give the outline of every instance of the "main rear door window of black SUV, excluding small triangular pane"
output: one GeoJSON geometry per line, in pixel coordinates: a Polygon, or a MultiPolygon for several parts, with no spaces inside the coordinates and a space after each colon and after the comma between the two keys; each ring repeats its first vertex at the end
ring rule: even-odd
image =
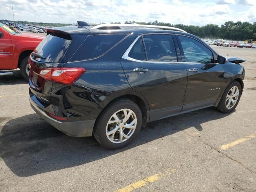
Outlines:
{"type": "Polygon", "coordinates": [[[143,39],[148,61],[177,62],[176,50],[171,35],[144,35],[143,39]]]}

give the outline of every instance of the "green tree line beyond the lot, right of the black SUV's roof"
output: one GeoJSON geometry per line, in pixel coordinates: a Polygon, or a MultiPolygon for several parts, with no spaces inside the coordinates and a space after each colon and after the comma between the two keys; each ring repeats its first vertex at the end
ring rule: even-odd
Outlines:
{"type": "Polygon", "coordinates": [[[183,24],[170,24],[164,22],[136,22],[126,21],[125,23],[132,22],[144,25],[160,25],[180,28],[188,33],[194,34],[200,38],[222,38],[228,40],[256,40],[256,22],[233,22],[227,21],[221,26],[215,24],[207,24],[205,26],[183,25],[183,24]]]}

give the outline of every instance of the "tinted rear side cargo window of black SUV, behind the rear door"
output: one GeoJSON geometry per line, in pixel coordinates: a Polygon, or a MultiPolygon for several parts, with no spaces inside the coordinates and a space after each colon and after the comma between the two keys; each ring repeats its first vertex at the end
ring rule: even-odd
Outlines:
{"type": "Polygon", "coordinates": [[[89,35],[70,61],[86,60],[101,56],[125,36],[126,34],[89,35]]]}

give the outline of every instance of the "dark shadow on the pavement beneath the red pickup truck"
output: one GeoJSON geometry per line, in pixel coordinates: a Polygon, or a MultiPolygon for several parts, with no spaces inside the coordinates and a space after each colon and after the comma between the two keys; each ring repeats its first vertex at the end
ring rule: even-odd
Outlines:
{"type": "Polygon", "coordinates": [[[13,75],[0,76],[0,85],[17,85],[28,83],[20,74],[20,70],[8,70],[13,72],[13,75]]]}

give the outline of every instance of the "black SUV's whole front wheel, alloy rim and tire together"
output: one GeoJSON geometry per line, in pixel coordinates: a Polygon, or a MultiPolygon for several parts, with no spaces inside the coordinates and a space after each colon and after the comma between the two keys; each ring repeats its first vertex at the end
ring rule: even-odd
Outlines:
{"type": "Polygon", "coordinates": [[[241,94],[242,88],[240,83],[237,81],[231,82],[224,91],[216,108],[224,113],[232,112],[238,105],[241,94]]]}

